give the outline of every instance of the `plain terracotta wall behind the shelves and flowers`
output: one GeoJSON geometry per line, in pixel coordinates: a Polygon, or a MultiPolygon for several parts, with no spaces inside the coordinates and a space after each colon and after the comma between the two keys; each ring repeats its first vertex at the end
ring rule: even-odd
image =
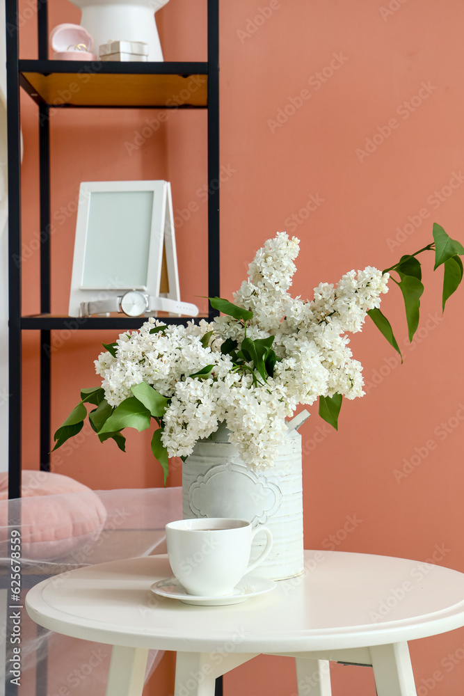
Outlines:
{"type": "MultiPolygon", "coordinates": [[[[67,0],[49,4],[51,26],[79,21],[67,0]]],[[[205,0],[172,0],[157,16],[167,60],[205,59],[205,0]]],[[[321,280],[336,282],[368,264],[389,267],[417,251],[431,241],[434,221],[464,239],[463,24],[461,0],[221,1],[223,296],[239,287],[246,263],[278,230],[301,239],[294,294],[303,296],[321,280]]],[[[33,18],[24,22],[21,50],[35,56],[33,18]]],[[[37,113],[26,97],[22,109],[24,244],[31,249],[39,231],[37,113]]],[[[176,233],[184,299],[205,294],[206,205],[197,193],[206,181],[205,113],[173,113],[129,155],[127,143],[145,118],[145,111],[122,110],[53,117],[51,203],[65,218],[52,241],[56,313],[67,308],[81,180],[166,178],[175,209],[198,203],[176,233]]],[[[433,275],[432,266],[430,255],[412,345],[398,289],[383,301],[403,365],[367,324],[352,341],[366,396],[344,404],[338,433],[315,408],[302,429],[307,548],[433,559],[464,571],[464,293],[442,317],[442,271],[433,275]]],[[[24,263],[23,306],[24,313],[38,310],[33,250],[24,263]]],[[[79,386],[97,384],[92,361],[100,342],[113,337],[54,333],[54,427],[79,386]]],[[[37,349],[38,337],[26,335],[29,468],[38,466],[37,349]]],[[[54,470],[95,489],[159,486],[147,445],[129,437],[122,454],[113,443],[84,437],[54,457],[54,470]]],[[[179,475],[175,466],[169,484],[179,484],[179,475]]],[[[463,645],[462,630],[410,644],[419,696],[461,695],[463,645]]],[[[163,664],[158,693],[167,694],[173,661],[163,664]]],[[[335,666],[332,674],[335,694],[374,693],[371,670],[335,666]]],[[[161,672],[153,686],[157,679],[161,672]]],[[[237,692],[292,696],[294,668],[285,658],[259,658],[227,675],[225,693],[237,692]]]]}

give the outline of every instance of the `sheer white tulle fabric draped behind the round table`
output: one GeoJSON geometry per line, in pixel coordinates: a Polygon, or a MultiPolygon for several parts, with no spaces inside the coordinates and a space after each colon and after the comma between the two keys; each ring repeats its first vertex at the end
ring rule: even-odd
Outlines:
{"type": "MultiPolygon", "coordinates": [[[[61,536],[59,523],[52,521],[54,516],[51,511],[61,509],[64,504],[82,509],[82,514],[86,514],[86,506],[75,505],[76,496],[87,495],[86,493],[43,496],[43,519],[35,519],[33,530],[27,529],[24,524],[19,525],[24,538],[30,539],[27,555],[23,555],[21,559],[22,606],[27,590],[49,576],[82,565],[166,552],[164,525],[169,521],[182,519],[182,489],[129,489],[95,491],[95,494],[96,502],[103,503],[106,509],[106,520],[99,513],[99,523],[95,525],[94,532],[87,537],[79,537],[77,541],[70,541],[67,550],[61,551],[60,555],[54,555],[53,548],[61,546],[62,549],[62,544],[54,547],[55,542],[50,541],[50,552],[50,548],[45,548],[43,541],[40,541],[40,557],[34,546],[34,535],[37,539],[43,539],[47,525],[53,525],[50,531],[61,536]]],[[[12,649],[6,624],[6,612],[11,604],[8,601],[11,594],[8,539],[13,528],[18,528],[21,513],[23,520],[26,519],[24,506],[27,504],[27,498],[0,503],[0,667],[5,670],[6,665],[7,683],[12,649]],[[7,520],[9,524],[6,523],[7,520]]],[[[74,515],[73,525],[76,529],[85,522],[84,519],[76,519],[74,515]]],[[[63,533],[64,525],[67,524],[69,522],[63,520],[63,533]]],[[[20,611],[22,674],[19,696],[104,696],[111,646],[46,631],[29,619],[25,608],[20,611]]],[[[159,651],[150,651],[146,678],[152,674],[161,655],[159,651]]],[[[8,696],[8,690],[5,692],[3,688],[2,680],[0,694],[6,693],[8,696]]]]}

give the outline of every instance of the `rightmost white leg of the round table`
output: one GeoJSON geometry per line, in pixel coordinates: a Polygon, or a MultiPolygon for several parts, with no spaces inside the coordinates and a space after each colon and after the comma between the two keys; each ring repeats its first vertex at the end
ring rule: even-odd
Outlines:
{"type": "Polygon", "coordinates": [[[378,696],[416,696],[408,643],[369,648],[378,696]]]}

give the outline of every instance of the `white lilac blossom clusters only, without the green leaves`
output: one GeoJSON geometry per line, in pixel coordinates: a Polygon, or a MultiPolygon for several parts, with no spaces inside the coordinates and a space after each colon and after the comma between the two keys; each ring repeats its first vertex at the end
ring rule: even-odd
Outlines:
{"type": "Polygon", "coordinates": [[[131,386],[144,381],[169,400],[162,423],[169,456],[188,456],[199,439],[225,422],[243,461],[259,469],[277,457],[285,418],[298,404],[335,393],[362,396],[362,366],[353,359],[346,333],[361,331],[367,312],[378,308],[387,292],[389,276],[372,267],[349,271],[337,286],[321,283],[314,299],[303,301],[288,292],[297,255],[298,239],[285,232],[257,251],[248,280],[234,293],[237,306],[253,312],[246,328],[226,316],[150,333],[163,326],[150,317],[140,331],[122,333],[115,357],[105,352],[95,361],[109,404],[118,406],[132,395],[131,386]],[[239,346],[245,336],[271,335],[278,361],[266,382],[256,371],[234,370],[230,355],[221,353],[227,339],[239,346]],[[191,377],[207,365],[211,372],[205,379],[191,377]]]}

